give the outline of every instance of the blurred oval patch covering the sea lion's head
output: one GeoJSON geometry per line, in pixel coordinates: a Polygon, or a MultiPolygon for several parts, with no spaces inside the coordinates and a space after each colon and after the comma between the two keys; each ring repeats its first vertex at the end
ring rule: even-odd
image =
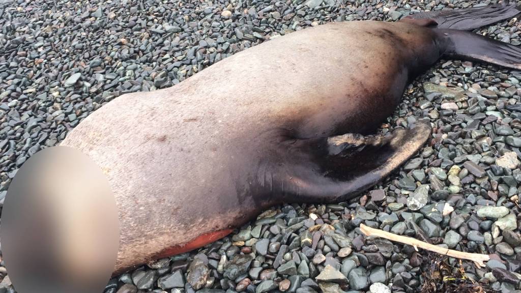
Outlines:
{"type": "Polygon", "coordinates": [[[34,154],[9,187],[0,239],[18,293],[103,292],[119,246],[108,179],[67,146],[34,154]]]}

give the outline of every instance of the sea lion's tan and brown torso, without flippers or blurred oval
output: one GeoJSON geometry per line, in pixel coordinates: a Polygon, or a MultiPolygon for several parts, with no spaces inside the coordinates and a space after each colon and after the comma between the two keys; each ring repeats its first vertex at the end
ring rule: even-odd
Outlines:
{"type": "Polygon", "coordinates": [[[120,96],[61,145],[89,155],[109,178],[119,266],[143,263],[281,203],[268,192],[286,179],[273,177],[287,158],[278,142],[375,129],[420,69],[411,65],[439,58],[433,44],[428,29],[407,23],[305,29],[171,88],[120,96]]]}

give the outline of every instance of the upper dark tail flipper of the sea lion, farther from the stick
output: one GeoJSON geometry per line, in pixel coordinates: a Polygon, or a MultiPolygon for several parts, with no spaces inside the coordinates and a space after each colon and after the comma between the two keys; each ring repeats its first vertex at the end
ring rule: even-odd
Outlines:
{"type": "Polygon", "coordinates": [[[496,23],[521,13],[515,3],[493,4],[483,7],[420,12],[400,21],[432,19],[440,29],[474,30],[496,23]]]}

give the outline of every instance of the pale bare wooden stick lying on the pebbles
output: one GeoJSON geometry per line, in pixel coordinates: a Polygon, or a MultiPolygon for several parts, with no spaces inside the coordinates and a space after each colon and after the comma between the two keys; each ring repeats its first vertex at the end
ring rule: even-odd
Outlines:
{"type": "Polygon", "coordinates": [[[473,261],[477,266],[485,266],[485,263],[483,262],[490,260],[487,254],[468,253],[452,249],[446,249],[411,237],[400,236],[383,230],[370,228],[364,224],[360,224],[360,230],[362,231],[362,233],[365,234],[365,236],[375,236],[385,238],[391,241],[408,244],[413,246],[416,251],[418,251],[419,247],[442,255],[447,255],[452,258],[470,260],[473,261]]]}

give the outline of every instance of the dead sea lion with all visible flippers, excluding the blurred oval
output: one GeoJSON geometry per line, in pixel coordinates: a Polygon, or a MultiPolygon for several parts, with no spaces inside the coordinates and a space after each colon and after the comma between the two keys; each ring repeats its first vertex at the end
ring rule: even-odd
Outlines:
{"type": "Polygon", "coordinates": [[[521,49],[467,32],[515,5],[304,29],[226,58],[168,89],[125,94],[61,145],[107,176],[119,210],[115,272],[198,247],[282,202],[356,196],[430,135],[417,123],[364,136],[409,81],[442,57],[521,69],[521,49]]]}

